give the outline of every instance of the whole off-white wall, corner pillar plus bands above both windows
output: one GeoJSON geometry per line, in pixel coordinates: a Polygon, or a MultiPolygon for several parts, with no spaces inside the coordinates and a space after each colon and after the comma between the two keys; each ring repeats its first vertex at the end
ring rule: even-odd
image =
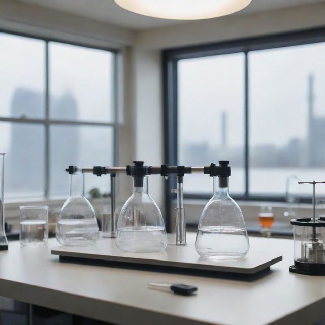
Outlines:
{"type": "MultiPolygon", "coordinates": [[[[322,2],[134,32],[35,5],[1,0],[0,28],[122,49],[119,164],[137,159],[148,165],[160,165],[165,163],[161,49],[324,26],[324,17],[322,2]]],[[[131,181],[126,176],[119,179],[119,200],[123,201],[131,190],[131,181]]],[[[150,192],[161,208],[163,182],[159,176],[150,177],[150,192]]]]}

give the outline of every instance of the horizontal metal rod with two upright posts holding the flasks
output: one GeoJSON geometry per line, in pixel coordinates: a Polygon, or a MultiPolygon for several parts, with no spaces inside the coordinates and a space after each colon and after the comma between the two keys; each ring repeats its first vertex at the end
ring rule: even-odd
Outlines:
{"type": "MultiPolygon", "coordinates": [[[[142,163],[139,161],[134,161],[135,165],[142,163]]],[[[143,163],[142,163],[143,164],[143,163]]],[[[173,193],[177,193],[177,208],[176,210],[176,245],[186,245],[186,222],[185,222],[185,209],[183,206],[183,181],[185,174],[208,174],[211,175],[212,169],[215,169],[215,165],[211,164],[210,166],[202,167],[191,167],[191,166],[143,166],[148,171],[147,175],[161,175],[165,179],[171,174],[177,176],[177,189],[173,190],[173,193]]],[[[81,173],[92,173],[97,176],[102,176],[110,174],[111,176],[111,233],[109,237],[116,237],[116,214],[115,214],[115,195],[116,195],[116,186],[115,186],[115,176],[116,174],[127,174],[132,175],[132,168],[134,166],[126,167],[103,167],[103,166],[94,166],[93,168],[78,168],[76,166],[69,166],[66,171],[69,174],[74,174],[75,172],[81,173]]],[[[216,171],[213,171],[217,175],[216,171]]]]}

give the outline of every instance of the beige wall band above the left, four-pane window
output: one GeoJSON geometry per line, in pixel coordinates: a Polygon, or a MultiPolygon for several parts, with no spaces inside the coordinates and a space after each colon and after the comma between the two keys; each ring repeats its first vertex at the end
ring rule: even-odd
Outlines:
{"type": "Polygon", "coordinates": [[[134,38],[126,28],[16,0],[0,1],[0,28],[112,48],[131,45],[134,38]]]}

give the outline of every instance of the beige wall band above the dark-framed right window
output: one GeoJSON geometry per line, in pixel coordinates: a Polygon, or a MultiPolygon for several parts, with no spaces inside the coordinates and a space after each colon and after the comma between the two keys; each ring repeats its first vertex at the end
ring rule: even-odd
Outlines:
{"type": "Polygon", "coordinates": [[[146,29],[137,32],[136,45],[147,49],[165,49],[319,26],[325,26],[325,2],[146,29]]]}

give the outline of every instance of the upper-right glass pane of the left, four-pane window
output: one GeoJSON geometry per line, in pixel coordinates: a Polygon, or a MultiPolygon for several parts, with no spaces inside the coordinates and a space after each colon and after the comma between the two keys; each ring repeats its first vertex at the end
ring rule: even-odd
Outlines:
{"type": "Polygon", "coordinates": [[[112,122],[112,52],[49,43],[50,118],[112,122]]]}

